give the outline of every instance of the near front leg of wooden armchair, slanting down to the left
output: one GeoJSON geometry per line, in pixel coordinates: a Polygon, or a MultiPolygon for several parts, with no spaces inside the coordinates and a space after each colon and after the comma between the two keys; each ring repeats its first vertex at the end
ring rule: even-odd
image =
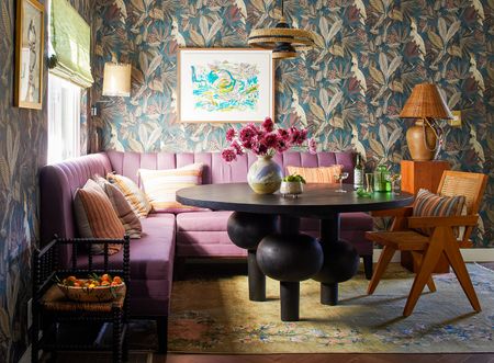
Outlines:
{"type": "Polygon", "coordinates": [[[444,237],[444,234],[434,234],[433,238],[434,242],[429,243],[429,248],[425,252],[424,259],[420,264],[420,270],[418,270],[414,283],[412,285],[412,290],[408,295],[408,299],[406,300],[405,308],[403,310],[403,316],[409,316],[412,311],[414,310],[415,305],[417,304],[418,297],[420,296],[422,292],[424,291],[424,286],[426,285],[427,281],[429,281],[430,275],[434,271],[434,268],[437,264],[437,261],[439,261],[439,257],[442,253],[444,250],[444,243],[442,240],[436,237],[444,237]]]}

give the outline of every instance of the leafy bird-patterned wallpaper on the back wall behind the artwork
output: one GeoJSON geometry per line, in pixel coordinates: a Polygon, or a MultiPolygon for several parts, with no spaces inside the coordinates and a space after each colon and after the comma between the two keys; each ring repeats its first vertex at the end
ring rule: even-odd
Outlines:
{"type": "MultiPolygon", "coordinates": [[[[252,26],[279,14],[268,0],[98,0],[93,98],[104,61],[133,65],[128,99],[97,120],[103,148],[217,150],[229,125],[177,123],[179,47],[245,47],[252,26]]],[[[304,125],[325,150],[355,148],[372,169],[409,158],[398,118],[414,84],[442,89],[463,125],[445,124],[440,158],[493,175],[494,3],[487,0],[289,0],[291,24],[318,34],[319,49],[277,66],[277,122],[304,125]],[[491,103],[489,102],[491,101],[491,103]],[[491,136],[491,137],[490,137],[491,136]]],[[[104,98],[103,98],[104,99],[104,98]]],[[[490,181],[478,246],[494,246],[490,181]]]]}

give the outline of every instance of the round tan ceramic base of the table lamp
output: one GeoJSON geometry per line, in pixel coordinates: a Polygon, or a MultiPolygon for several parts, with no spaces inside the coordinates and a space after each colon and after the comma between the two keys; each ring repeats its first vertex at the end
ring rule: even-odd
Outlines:
{"type": "Polygon", "coordinates": [[[424,127],[422,121],[417,121],[414,126],[408,128],[406,144],[414,161],[433,160],[437,151],[436,134],[430,126],[424,127]]]}

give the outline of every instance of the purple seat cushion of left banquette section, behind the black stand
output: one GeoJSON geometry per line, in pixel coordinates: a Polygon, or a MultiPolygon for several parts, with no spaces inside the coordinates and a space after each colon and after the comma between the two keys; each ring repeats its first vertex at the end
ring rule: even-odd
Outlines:
{"type": "MultiPolygon", "coordinates": [[[[141,239],[131,240],[131,276],[136,280],[169,280],[172,277],[175,256],[175,215],[149,214],[141,219],[141,239]]],[[[110,268],[122,265],[123,251],[113,254],[110,268]]],[[[87,266],[88,258],[80,256],[78,264],[87,266]]],[[[93,258],[96,266],[103,264],[102,256],[93,258]]]]}

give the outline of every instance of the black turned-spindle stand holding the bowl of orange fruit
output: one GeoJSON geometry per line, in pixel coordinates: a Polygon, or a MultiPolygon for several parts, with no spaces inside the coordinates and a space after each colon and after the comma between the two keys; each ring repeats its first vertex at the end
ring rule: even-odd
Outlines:
{"type": "Polygon", "coordinates": [[[113,362],[127,361],[127,318],[130,296],[130,239],[60,239],[55,238],[41,250],[33,253],[33,329],[32,329],[32,362],[38,362],[40,351],[50,353],[56,360],[58,351],[112,351],[113,362]],[[103,265],[96,268],[90,246],[104,246],[103,265]],[[122,264],[109,266],[109,245],[123,245],[122,264]],[[65,265],[59,261],[59,247],[71,245],[71,261],[65,265]],[[78,251],[82,250],[88,259],[87,268],[78,268],[78,251]],[[109,273],[124,279],[126,288],[123,294],[108,303],[77,303],[66,299],[56,286],[56,277],[68,275],[86,277],[89,274],[109,273]],[[70,326],[85,326],[86,339],[80,334],[65,331],[70,326]],[[112,343],[101,342],[104,330],[112,328],[112,343]],[[41,333],[42,332],[42,333],[41,333]]]}

